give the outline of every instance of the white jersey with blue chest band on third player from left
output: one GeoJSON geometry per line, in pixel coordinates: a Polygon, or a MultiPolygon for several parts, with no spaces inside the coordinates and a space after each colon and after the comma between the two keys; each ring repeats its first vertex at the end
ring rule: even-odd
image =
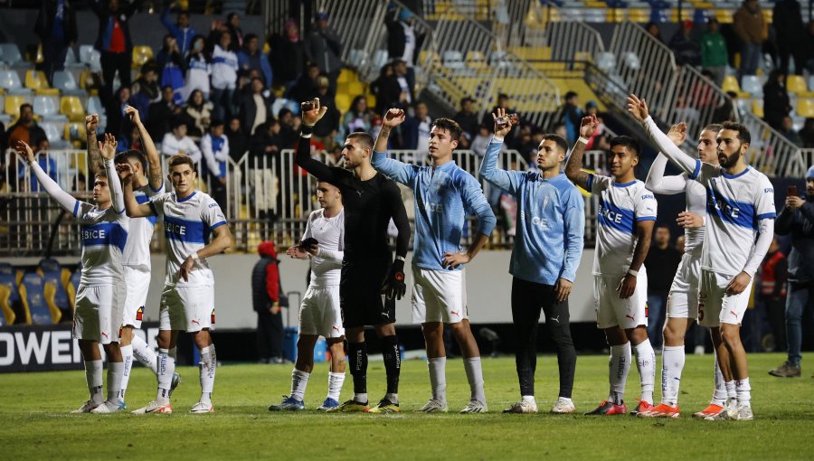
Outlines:
{"type": "Polygon", "coordinates": [[[184,199],[163,193],[150,200],[156,216],[162,216],[166,237],[166,284],[178,287],[212,286],[212,269],[205,259],[195,263],[187,281],[178,275],[185,259],[209,242],[212,231],[226,225],[221,207],[212,197],[195,191],[184,199]]]}

